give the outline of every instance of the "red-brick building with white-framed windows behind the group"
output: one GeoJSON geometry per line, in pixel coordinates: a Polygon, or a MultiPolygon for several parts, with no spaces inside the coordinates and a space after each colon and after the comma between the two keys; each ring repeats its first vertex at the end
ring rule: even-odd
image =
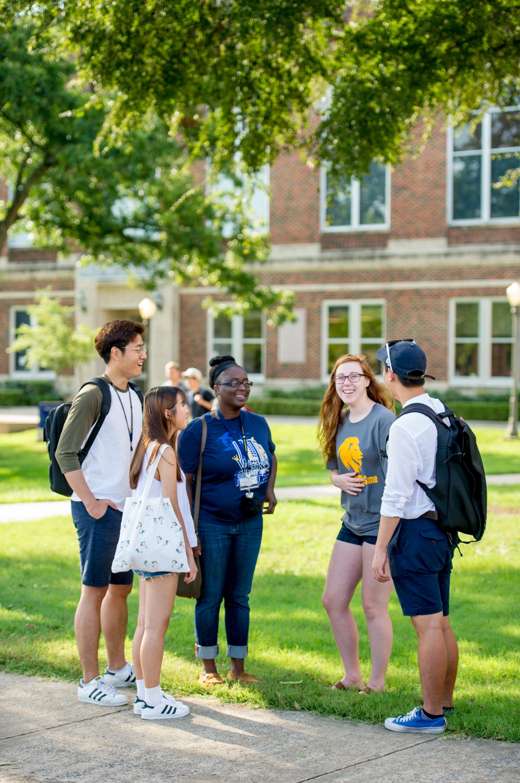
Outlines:
{"type": "MultiPolygon", "coordinates": [[[[308,168],[298,153],[282,155],[268,172],[271,257],[257,271],[295,292],[298,322],[276,329],[260,313],[213,320],[201,308],[207,287],[163,287],[149,325],[146,383],[162,381],[169,359],[204,371],[211,355],[231,352],[259,384],[318,384],[343,352],[364,352],[375,363],[387,338],[414,337],[429,356],[432,386],[507,388],[505,289],[520,278],[520,197],[518,182],[493,185],[519,155],[517,110],[490,111],[474,135],[439,126],[418,157],[394,171],[373,164],[368,177],[343,182],[338,192],[328,188],[325,169],[308,168]]],[[[64,301],[76,297],[78,321],[91,326],[138,317],[144,294],[128,288],[123,273],[109,277],[76,261],[9,248],[0,259],[4,345],[30,292],[46,283],[64,301]]],[[[27,372],[2,355],[0,377],[27,372]]],[[[81,373],[92,371],[94,364],[81,373]]]]}

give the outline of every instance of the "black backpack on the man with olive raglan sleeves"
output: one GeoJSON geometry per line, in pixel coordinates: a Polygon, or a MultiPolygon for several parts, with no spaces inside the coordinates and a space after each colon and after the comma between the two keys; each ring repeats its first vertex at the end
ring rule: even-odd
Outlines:
{"type": "MultiPolygon", "coordinates": [[[[109,413],[110,403],[112,402],[112,395],[110,395],[109,384],[107,384],[106,381],[104,381],[102,378],[91,378],[90,381],[87,381],[80,387],[80,390],[84,386],[88,385],[94,385],[100,388],[102,391],[103,400],[101,403],[101,413],[99,413],[99,419],[96,421],[95,427],[88,437],[88,441],[77,455],[78,459],[80,460],[80,465],[84,463],[85,457],[92,447],[92,443],[95,441],[95,438],[97,438],[99,430],[102,428],[103,421],[106,419],[109,413]]],[[[143,396],[141,389],[136,386],[136,384],[132,384],[130,381],[128,382],[128,385],[138,395],[142,405],[143,396]]],[[[45,420],[45,427],[43,428],[43,439],[45,442],[47,442],[48,458],[51,460],[51,464],[48,466],[48,480],[50,482],[52,492],[56,492],[59,495],[65,495],[66,497],[70,497],[72,495],[72,489],[70,489],[70,486],[65,476],[63,475],[59,464],[56,462],[55,454],[56,449],[58,448],[59,436],[62,434],[66,417],[69,415],[71,405],[72,402],[63,402],[61,405],[53,408],[48,413],[48,417],[45,420]]]]}

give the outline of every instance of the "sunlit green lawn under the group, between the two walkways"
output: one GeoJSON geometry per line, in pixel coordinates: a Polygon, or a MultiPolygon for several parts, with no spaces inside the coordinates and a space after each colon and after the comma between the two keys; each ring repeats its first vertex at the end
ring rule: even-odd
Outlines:
{"type": "MultiPolygon", "coordinates": [[[[518,578],[520,486],[492,488],[490,521],[482,542],[455,556],[451,619],[461,648],[457,713],[449,731],[520,742],[520,615],[518,578]]],[[[265,520],[251,594],[247,668],[260,675],[256,689],[225,685],[225,701],[278,709],[314,710],[346,720],[381,723],[420,703],[416,640],[393,594],[395,642],[387,692],[370,698],[331,691],[342,676],[338,652],[321,607],[328,557],[339,529],[332,500],[284,501],[265,520]],[[299,682],[301,680],[301,682],[299,682]]],[[[79,594],[77,541],[70,518],[2,525],[0,550],[0,666],[16,673],[63,680],[80,677],[73,619],[79,594]]],[[[179,599],[167,633],[163,686],[176,695],[203,695],[193,644],[192,601],[179,599]]],[[[360,605],[360,655],[368,677],[369,647],[360,605]]],[[[137,615],[130,598],[127,655],[137,615]]],[[[221,629],[224,626],[221,621],[221,629]]],[[[223,633],[219,638],[225,650],[223,633]]],[[[101,651],[102,666],[105,651],[101,651]]],[[[227,659],[221,655],[221,673],[227,659]]],[[[70,698],[75,698],[70,687],[70,698]]]]}

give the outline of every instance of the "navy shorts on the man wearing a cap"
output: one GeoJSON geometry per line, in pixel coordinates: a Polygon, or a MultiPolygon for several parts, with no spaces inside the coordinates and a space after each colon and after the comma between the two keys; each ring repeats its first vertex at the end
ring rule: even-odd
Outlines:
{"type": "Polygon", "coordinates": [[[454,549],[433,519],[400,520],[387,551],[403,615],[450,614],[454,549]]]}

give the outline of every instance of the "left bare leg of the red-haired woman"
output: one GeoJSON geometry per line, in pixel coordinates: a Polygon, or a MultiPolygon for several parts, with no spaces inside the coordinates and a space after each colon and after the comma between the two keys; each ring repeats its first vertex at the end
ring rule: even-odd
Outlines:
{"type": "Polygon", "coordinates": [[[350,601],[362,575],[362,547],[336,540],[328,564],[322,601],[345,668],[341,680],[345,687],[363,685],[359,664],[359,636],[356,621],[350,611],[350,601]]]}

